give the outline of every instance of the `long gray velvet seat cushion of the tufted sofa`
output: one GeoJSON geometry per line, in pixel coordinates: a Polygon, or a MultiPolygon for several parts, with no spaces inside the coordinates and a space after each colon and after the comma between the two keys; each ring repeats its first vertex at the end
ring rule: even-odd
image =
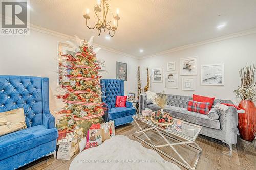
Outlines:
{"type": "MultiPolygon", "coordinates": [[[[147,105],[151,110],[158,110],[158,107],[155,104],[147,105]]],[[[164,111],[170,113],[174,118],[182,119],[187,122],[191,122],[197,125],[201,125],[204,127],[220,129],[220,121],[209,118],[207,115],[190,112],[186,108],[180,108],[175,106],[165,106],[164,111]]]]}

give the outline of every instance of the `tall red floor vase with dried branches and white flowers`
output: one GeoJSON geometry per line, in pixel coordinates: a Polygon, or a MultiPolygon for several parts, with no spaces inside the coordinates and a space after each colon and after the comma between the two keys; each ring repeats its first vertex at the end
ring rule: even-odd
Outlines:
{"type": "Polygon", "coordinates": [[[238,129],[241,138],[246,141],[253,141],[255,138],[254,132],[256,132],[256,107],[253,102],[256,96],[255,73],[255,65],[246,65],[245,68],[240,69],[241,86],[234,90],[236,96],[242,99],[238,107],[245,110],[245,113],[238,114],[238,129]]]}

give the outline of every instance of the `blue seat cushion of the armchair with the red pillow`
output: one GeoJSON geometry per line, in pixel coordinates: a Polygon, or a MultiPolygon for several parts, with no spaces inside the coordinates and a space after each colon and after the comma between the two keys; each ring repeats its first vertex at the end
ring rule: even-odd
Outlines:
{"type": "Polygon", "coordinates": [[[124,117],[128,115],[132,115],[135,113],[135,108],[133,107],[115,107],[112,108],[111,111],[108,113],[109,119],[113,120],[119,117],[124,117]]]}

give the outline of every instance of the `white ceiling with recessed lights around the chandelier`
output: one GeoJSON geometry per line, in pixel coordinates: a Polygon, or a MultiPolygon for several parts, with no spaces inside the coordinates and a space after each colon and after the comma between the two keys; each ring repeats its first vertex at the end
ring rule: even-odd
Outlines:
{"type": "Polygon", "coordinates": [[[121,17],[113,38],[89,30],[83,14],[96,0],[31,0],[31,23],[137,57],[256,27],[255,0],[109,0],[121,17]],[[217,29],[226,23],[226,27],[217,29]],[[140,48],[144,52],[140,53],[140,48]]]}

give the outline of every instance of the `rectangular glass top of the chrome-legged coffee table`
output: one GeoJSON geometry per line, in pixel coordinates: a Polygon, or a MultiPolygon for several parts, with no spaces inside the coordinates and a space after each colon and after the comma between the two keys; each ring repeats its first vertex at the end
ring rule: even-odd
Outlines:
{"type": "Polygon", "coordinates": [[[185,122],[184,120],[180,120],[180,119],[176,119],[176,118],[173,118],[173,120],[174,120],[173,126],[168,126],[168,127],[162,127],[162,126],[156,125],[151,120],[146,120],[141,114],[134,115],[133,119],[139,120],[140,122],[143,122],[150,126],[154,126],[164,132],[172,133],[174,135],[186,138],[191,141],[196,140],[199,132],[202,129],[202,126],[195,125],[195,124],[189,123],[189,122],[185,122]],[[181,126],[179,126],[180,128],[177,126],[177,121],[178,121],[178,125],[181,125],[181,126]]]}

